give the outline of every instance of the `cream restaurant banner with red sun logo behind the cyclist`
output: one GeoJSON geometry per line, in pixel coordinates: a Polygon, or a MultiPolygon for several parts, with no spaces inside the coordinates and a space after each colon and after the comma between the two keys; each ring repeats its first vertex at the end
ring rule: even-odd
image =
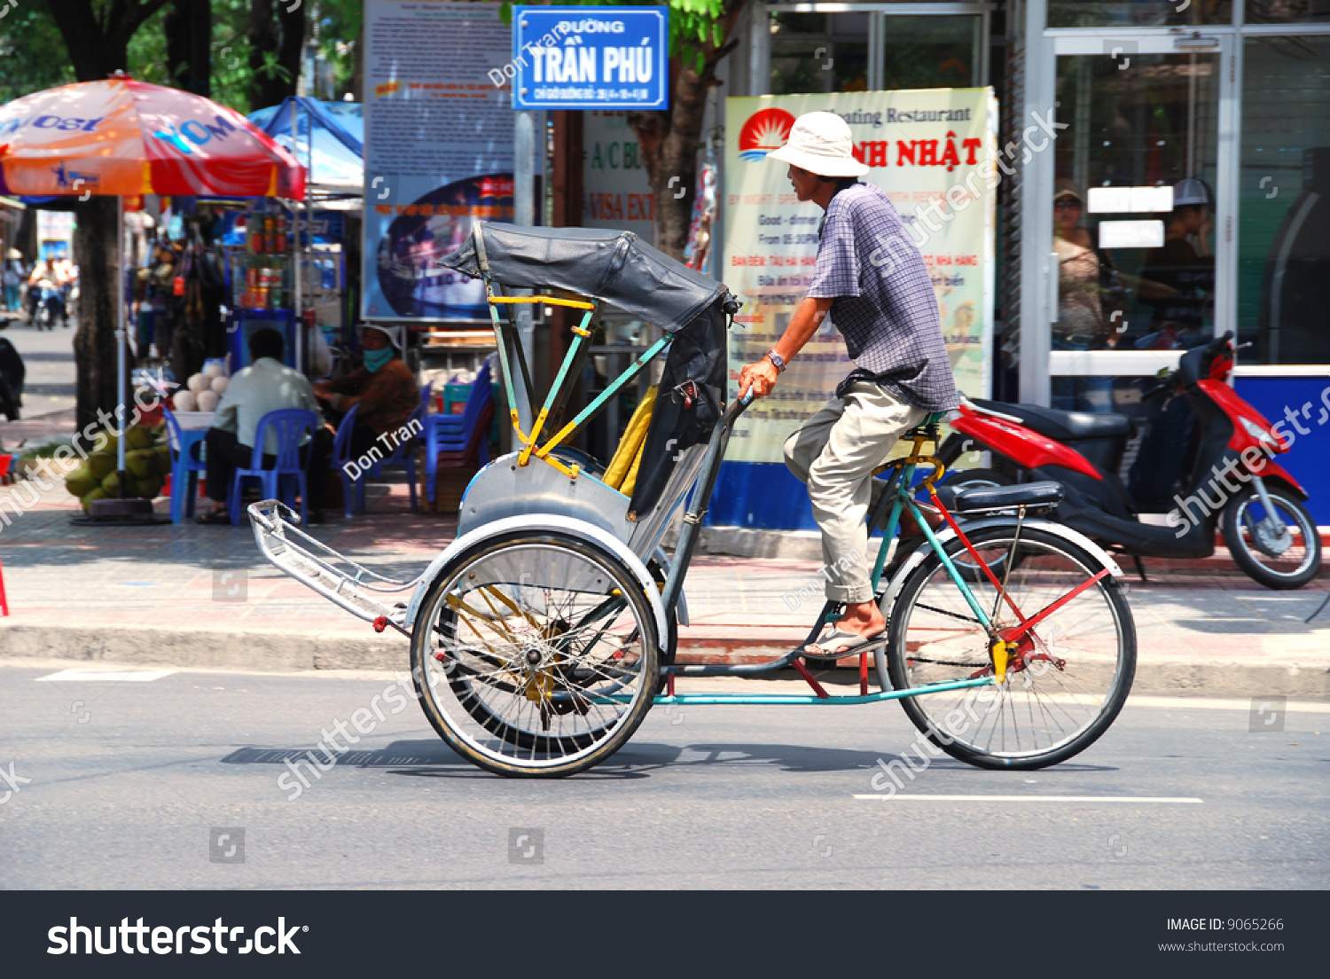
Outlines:
{"type": "MultiPolygon", "coordinates": [[[[726,100],[725,265],[717,278],[743,301],[735,318],[743,329],[730,331],[730,396],[742,367],[779,339],[813,278],[822,209],[799,204],[787,166],[766,154],[785,144],[798,116],[819,110],[850,125],[855,156],[871,168],[863,180],[887,193],[923,253],[958,388],[987,396],[996,186],[986,185],[992,168],[982,164],[996,152],[998,132],[987,88],[726,100]]],[[[883,246],[878,258],[892,261],[892,243],[883,246]]],[[[739,418],[726,459],[782,462],[785,439],[853,368],[829,318],[771,395],[739,418]]]]}

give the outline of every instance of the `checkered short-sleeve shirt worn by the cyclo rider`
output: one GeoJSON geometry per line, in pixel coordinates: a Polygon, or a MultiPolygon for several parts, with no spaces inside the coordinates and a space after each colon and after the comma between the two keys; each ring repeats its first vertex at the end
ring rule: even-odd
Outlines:
{"type": "Polygon", "coordinates": [[[831,198],[809,295],[835,299],[831,322],[854,360],[837,396],[868,380],[924,411],[956,407],[928,269],[880,189],[855,184],[831,198]]]}

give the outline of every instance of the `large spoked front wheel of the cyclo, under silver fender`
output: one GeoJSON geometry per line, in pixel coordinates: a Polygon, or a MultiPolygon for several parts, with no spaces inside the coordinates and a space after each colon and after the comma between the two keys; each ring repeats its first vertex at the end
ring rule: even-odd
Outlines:
{"type": "Polygon", "coordinates": [[[426,717],[458,754],[501,775],[571,775],[622,748],[650,710],[656,619],[604,548],[515,531],[440,571],[411,666],[426,717]]]}

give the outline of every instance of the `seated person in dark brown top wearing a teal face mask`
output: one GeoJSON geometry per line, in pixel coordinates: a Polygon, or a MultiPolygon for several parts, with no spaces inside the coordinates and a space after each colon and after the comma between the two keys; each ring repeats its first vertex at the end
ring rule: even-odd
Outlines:
{"type": "Polygon", "coordinates": [[[396,432],[420,403],[420,391],[411,368],[398,356],[392,334],[386,327],[362,325],[360,346],[364,350],[360,370],[322,380],[314,391],[327,399],[331,414],[338,419],[356,408],[348,448],[352,459],[359,459],[376,443],[382,456],[387,458],[398,447],[396,432]]]}

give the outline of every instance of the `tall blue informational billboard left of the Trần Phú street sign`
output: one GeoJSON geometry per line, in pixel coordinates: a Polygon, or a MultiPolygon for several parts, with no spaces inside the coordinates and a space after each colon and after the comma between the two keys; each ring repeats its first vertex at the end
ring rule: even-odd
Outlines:
{"type": "Polygon", "coordinates": [[[484,287],[439,265],[472,222],[512,221],[512,89],[499,4],[366,0],[368,319],[487,319],[484,287]]]}

